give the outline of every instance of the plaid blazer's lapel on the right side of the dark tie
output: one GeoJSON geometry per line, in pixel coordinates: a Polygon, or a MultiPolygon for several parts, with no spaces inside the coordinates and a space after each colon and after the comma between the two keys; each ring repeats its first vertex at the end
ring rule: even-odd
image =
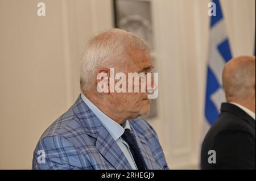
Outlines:
{"type": "Polygon", "coordinates": [[[134,132],[133,128],[131,128],[131,134],[136,138],[139,151],[141,151],[141,155],[146,166],[147,170],[159,170],[162,169],[158,163],[155,161],[150,148],[146,144],[146,140],[143,137],[139,136],[136,132],[134,132]]]}

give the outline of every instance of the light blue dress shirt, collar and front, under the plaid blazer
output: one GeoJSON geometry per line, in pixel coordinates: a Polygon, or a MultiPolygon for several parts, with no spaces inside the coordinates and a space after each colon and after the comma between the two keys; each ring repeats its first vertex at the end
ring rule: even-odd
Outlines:
{"type": "Polygon", "coordinates": [[[84,100],[85,104],[92,110],[92,112],[98,117],[104,127],[108,130],[110,135],[114,138],[115,142],[119,146],[119,148],[123,151],[123,154],[127,158],[128,162],[131,165],[133,170],[137,170],[136,163],[134,161],[133,155],[129,149],[129,145],[125,140],[122,139],[122,134],[125,132],[125,129],[130,129],[129,121],[125,121],[123,126],[119,125],[114,120],[110,119],[104,112],[102,112],[99,108],[97,108],[84,94],[81,93],[81,98],[84,100]]]}

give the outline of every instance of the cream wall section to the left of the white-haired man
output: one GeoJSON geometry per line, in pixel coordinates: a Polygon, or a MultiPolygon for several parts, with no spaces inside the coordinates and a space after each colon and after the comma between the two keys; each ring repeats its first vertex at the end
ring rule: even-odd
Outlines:
{"type": "Polygon", "coordinates": [[[39,137],[79,94],[86,41],[112,27],[111,0],[44,0],[45,17],[38,2],[0,0],[0,169],[31,169],[39,137]]]}

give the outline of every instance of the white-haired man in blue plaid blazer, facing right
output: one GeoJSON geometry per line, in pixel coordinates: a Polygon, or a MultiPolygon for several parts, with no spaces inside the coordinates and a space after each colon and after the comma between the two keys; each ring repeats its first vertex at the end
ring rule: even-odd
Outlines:
{"type": "Polygon", "coordinates": [[[81,65],[82,93],[43,133],[33,169],[168,169],[156,132],[139,117],[150,111],[148,94],[157,89],[156,83],[144,92],[113,91],[113,80],[98,76],[111,78],[110,69],[124,75],[151,73],[148,44],[118,29],[89,41],[81,65]],[[108,91],[101,91],[101,81],[108,91]]]}

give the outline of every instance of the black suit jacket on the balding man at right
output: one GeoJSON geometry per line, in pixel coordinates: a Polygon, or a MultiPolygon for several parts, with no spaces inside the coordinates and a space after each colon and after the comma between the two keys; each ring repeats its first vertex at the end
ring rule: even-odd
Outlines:
{"type": "Polygon", "coordinates": [[[241,108],[221,104],[221,113],[203,141],[201,169],[255,169],[255,120],[241,108]],[[209,150],[216,151],[216,163],[208,162],[213,155],[209,150]]]}

